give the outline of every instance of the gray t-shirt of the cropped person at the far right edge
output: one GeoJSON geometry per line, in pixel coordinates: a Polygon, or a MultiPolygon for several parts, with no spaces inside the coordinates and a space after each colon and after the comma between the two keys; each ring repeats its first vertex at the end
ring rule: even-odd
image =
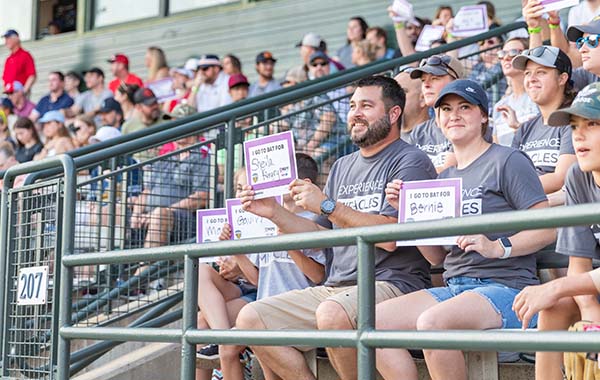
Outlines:
{"type": "MultiPolygon", "coordinates": [[[[591,172],[582,172],[579,164],[571,166],[565,179],[566,204],[600,202],[600,188],[591,172]]],[[[556,252],[567,256],[600,259],[600,225],[562,227],[558,229],[556,252]]]]}

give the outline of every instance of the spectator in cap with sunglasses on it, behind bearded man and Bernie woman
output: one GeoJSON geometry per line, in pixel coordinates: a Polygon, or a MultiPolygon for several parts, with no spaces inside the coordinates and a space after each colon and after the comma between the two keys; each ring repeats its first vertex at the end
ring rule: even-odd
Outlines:
{"type": "MultiPolygon", "coordinates": [[[[428,107],[433,107],[442,89],[450,82],[463,77],[462,63],[448,55],[433,55],[423,59],[419,67],[410,71],[412,79],[421,79],[421,92],[428,107]]],[[[438,127],[436,118],[416,125],[406,141],[415,145],[429,156],[438,173],[454,166],[452,143],[438,127]]]]}

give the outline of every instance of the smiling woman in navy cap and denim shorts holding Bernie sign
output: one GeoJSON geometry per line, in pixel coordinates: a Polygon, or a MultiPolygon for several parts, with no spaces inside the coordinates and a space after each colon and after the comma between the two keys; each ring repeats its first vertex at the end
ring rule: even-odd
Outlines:
{"type": "MultiPolygon", "coordinates": [[[[440,93],[436,113],[454,146],[457,165],[439,178],[462,179],[463,215],[548,207],[531,160],[518,150],[485,141],[487,102],[483,88],[470,80],[454,81],[440,93]]],[[[398,205],[401,188],[400,181],[387,185],[390,204],[398,205]]],[[[377,329],[521,327],[512,302],[520,289],[538,283],[533,253],[554,239],[554,230],[459,236],[444,260],[446,286],[380,303],[377,329]]],[[[535,323],[534,318],[530,325],[535,323]]],[[[467,378],[462,352],[424,350],[424,355],[432,379],[467,378]]],[[[417,379],[407,350],[378,350],[377,368],[386,379],[417,379]]]]}

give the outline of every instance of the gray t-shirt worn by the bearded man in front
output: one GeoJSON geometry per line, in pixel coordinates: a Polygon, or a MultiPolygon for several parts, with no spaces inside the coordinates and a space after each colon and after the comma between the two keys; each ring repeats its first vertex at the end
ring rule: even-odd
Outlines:
{"type": "MultiPolygon", "coordinates": [[[[435,178],[435,168],[425,154],[402,140],[388,145],[372,157],[359,152],[338,159],[332,166],[325,194],[354,210],[396,218],[398,211],[385,200],[385,186],[393,179],[416,181],[435,178]]],[[[319,218],[329,228],[329,219],[319,218]]],[[[356,246],[334,247],[328,286],[356,284],[356,246]]],[[[409,293],[431,285],[429,263],[416,247],[398,247],[394,252],[375,248],[375,278],[389,281],[409,293]]]]}

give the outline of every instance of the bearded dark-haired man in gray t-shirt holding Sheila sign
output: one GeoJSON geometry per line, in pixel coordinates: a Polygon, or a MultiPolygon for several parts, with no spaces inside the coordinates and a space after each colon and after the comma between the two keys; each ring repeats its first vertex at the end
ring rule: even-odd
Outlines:
{"type": "MultiPolygon", "coordinates": [[[[301,219],[273,198],[254,199],[246,186],[245,210],[272,220],[282,233],[318,231],[397,223],[397,211],[385,201],[385,186],[393,179],[427,180],[435,168],[417,148],[400,140],[405,95],[391,78],[373,76],[356,84],[350,100],[348,133],[359,151],[337,160],[324,192],[307,181],[295,180],[290,195],[297,206],[320,214],[317,222],[301,219]]],[[[430,250],[423,249],[425,255],[430,250]]],[[[416,247],[377,244],[376,303],[429,286],[429,263],[416,247]]],[[[246,305],[239,329],[355,329],[357,323],[357,248],[332,248],[329,278],[324,286],[288,292],[246,305]]],[[[284,379],[314,379],[301,348],[252,347],[261,365],[284,379]]],[[[328,348],[329,358],[342,379],[356,379],[356,351],[328,348]]]]}

